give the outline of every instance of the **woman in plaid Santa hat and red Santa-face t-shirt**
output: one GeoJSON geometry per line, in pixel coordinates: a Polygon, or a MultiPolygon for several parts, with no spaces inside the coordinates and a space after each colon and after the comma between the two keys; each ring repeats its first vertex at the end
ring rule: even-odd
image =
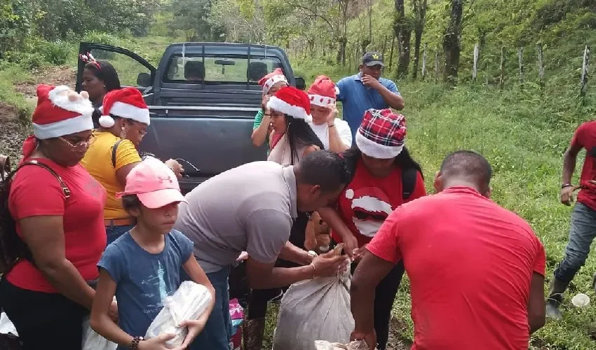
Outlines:
{"type": "MultiPolygon", "coordinates": [[[[404,146],[405,134],[404,116],[391,109],[366,111],[355,145],[342,153],[352,179],[335,208],[318,210],[332,228],[333,241],[343,242],[346,253],[357,262],[393,210],[426,195],[420,165],[404,146]]],[[[387,344],[391,309],[403,274],[400,262],[375,290],[374,330],[379,350],[387,344]]]]}

